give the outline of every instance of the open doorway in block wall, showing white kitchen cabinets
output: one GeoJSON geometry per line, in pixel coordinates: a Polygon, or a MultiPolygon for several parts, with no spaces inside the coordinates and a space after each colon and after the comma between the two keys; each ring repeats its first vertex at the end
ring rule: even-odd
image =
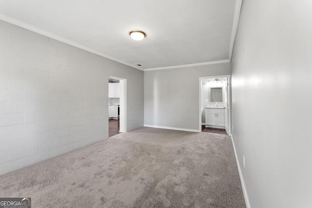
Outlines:
{"type": "Polygon", "coordinates": [[[126,132],[126,79],[108,77],[108,135],[126,132]]]}

